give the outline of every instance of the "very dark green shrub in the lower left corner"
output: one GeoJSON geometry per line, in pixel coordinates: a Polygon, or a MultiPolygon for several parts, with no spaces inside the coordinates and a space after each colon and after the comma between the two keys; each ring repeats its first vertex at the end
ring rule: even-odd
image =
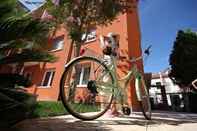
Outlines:
{"type": "Polygon", "coordinates": [[[16,89],[0,88],[0,128],[7,128],[32,114],[36,97],[16,89]]]}

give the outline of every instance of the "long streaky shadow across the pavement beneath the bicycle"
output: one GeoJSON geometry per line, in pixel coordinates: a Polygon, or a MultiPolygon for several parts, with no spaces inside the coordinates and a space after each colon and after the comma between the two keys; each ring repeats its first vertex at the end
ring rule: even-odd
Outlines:
{"type": "Polygon", "coordinates": [[[178,126],[187,123],[197,123],[197,114],[154,113],[153,119],[150,121],[145,120],[140,114],[117,118],[103,117],[94,121],[81,121],[72,116],[29,119],[18,123],[9,130],[2,131],[112,131],[111,127],[124,127],[124,125],[147,127],[162,124],[178,126]]]}

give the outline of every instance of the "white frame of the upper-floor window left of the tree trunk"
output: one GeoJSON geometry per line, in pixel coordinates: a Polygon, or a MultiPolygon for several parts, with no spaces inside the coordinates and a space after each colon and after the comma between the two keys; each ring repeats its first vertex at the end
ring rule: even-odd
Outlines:
{"type": "MultiPolygon", "coordinates": [[[[55,51],[59,51],[62,50],[64,48],[64,37],[57,37],[55,39],[53,39],[52,44],[57,44],[58,47],[56,49],[51,49],[50,52],[55,52],[55,51]],[[58,40],[58,43],[56,42],[58,40]]],[[[56,45],[52,45],[52,47],[56,47],[56,45]]]]}

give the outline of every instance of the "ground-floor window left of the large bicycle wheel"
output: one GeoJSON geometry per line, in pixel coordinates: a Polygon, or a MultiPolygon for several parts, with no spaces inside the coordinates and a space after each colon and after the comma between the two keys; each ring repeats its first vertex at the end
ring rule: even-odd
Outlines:
{"type": "Polygon", "coordinates": [[[44,73],[44,77],[41,83],[41,86],[50,87],[52,85],[52,81],[55,75],[54,70],[48,70],[44,73]]]}

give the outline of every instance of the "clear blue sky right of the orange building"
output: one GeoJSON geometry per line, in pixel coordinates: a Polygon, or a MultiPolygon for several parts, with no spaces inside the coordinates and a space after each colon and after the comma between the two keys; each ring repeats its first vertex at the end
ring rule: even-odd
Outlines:
{"type": "Polygon", "coordinates": [[[197,0],[140,0],[139,18],[142,49],[152,45],[144,70],[163,71],[170,67],[177,31],[197,31],[197,0]]]}

